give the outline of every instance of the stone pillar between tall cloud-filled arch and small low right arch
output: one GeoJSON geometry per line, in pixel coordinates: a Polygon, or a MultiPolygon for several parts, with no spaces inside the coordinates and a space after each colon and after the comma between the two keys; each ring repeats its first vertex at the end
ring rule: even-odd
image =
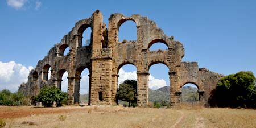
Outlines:
{"type": "Polygon", "coordinates": [[[175,71],[169,72],[170,79],[170,105],[175,106],[181,103],[181,92],[179,87],[179,77],[175,71]]]}

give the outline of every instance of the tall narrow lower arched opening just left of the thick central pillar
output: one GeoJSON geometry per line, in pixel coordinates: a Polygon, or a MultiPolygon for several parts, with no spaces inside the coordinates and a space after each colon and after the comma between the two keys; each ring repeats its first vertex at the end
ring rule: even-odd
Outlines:
{"type": "Polygon", "coordinates": [[[80,105],[89,105],[90,104],[90,85],[89,85],[89,75],[90,72],[88,68],[80,67],[76,71],[76,77],[80,78],[79,83],[79,104],[80,105]]]}

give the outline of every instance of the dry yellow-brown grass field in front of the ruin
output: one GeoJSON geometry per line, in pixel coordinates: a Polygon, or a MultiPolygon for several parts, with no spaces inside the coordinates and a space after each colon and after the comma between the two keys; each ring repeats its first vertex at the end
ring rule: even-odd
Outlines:
{"type": "Polygon", "coordinates": [[[171,109],[121,106],[0,106],[0,109],[5,127],[256,127],[253,109],[189,105],[171,109]]]}

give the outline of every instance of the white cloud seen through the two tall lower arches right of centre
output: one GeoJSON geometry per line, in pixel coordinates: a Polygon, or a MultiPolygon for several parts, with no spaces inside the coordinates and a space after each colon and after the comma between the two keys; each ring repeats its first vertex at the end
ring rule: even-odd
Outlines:
{"type": "MultiPolygon", "coordinates": [[[[137,73],[135,71],[125,72],[122,68],[120,68],[118,75],[118,85],[127,79],[137,80],[137,73]]],[[[165,80],[155,79],[155,77],[152,75],[148,76],[148,88],[156,90],[162,88],[163,86],[167,86],[165,80]]]]}

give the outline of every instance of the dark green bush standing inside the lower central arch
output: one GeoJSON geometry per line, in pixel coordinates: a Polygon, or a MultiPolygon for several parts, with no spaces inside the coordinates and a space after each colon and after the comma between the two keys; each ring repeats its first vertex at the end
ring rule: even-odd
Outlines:
{"type": "Polygon", "coordinates": [[[117,100],[129,102],[128,106],[137,106],[137,81],[125,80],[117,90],[117,100]]]}

